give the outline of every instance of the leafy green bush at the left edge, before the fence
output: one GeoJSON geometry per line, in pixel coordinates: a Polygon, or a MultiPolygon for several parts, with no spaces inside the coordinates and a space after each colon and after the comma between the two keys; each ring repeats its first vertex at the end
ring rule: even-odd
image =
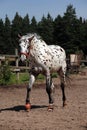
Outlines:
{"type": "Polygon", "coordinates": [[[7,61],[0,66],[0,85],[8,84],[11,78],[11,70],[7,61]]]}

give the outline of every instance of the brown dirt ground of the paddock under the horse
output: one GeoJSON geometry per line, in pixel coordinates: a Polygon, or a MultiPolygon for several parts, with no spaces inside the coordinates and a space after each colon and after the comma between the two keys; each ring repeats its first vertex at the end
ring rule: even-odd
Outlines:
{"type": "Polygon", "coordinates": [[[0,87],[0,130],[87,130],[87,73],[71,77],[66,87],[65,108],[59,80],[53,80],[56,86],[53,112],[47,111],[44,82],[37,81],[32,89],[30,112],[24,107],[26,84],[0,87]]]}

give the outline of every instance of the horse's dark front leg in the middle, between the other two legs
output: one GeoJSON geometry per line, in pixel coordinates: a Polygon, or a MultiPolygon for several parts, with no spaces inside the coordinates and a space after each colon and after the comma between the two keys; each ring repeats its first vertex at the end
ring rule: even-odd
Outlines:
{"type": "Polygon", "coordinates": [[[48,111],[52,111],[53,110],[53,103],[54,103],[54,85],[52,83],[52,77],[51,76],[47,76],[46,78],[46,91],[49,97],[49,106],[48,106],[48,111]]]}

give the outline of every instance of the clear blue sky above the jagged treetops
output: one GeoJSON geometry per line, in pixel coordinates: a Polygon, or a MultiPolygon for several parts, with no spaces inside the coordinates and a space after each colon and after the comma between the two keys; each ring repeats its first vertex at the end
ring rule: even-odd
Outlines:
{"type": "Polygon", "coordinates": [[[4,20],[7,15],[13,20],[16,12],[22,17],[28,14],[30,19],[35,16],[37,21],[48,13],[55,19],[58,15],[63,16],[70,4],[78,18],[87,19],[87,0],[0,0],[0,19],[4,20]]]}

